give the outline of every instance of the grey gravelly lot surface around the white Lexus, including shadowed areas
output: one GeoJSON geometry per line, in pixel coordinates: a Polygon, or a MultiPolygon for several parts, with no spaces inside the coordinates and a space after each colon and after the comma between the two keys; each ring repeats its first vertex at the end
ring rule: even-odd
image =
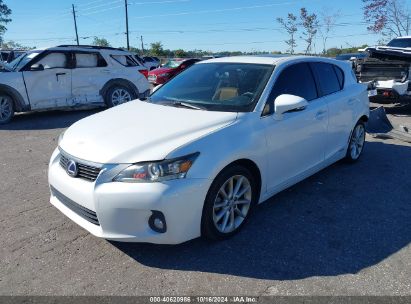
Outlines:
{"type": "MultiPolygon", "coordinates": [[[[0,128],[0,295],[411,295],[410,144],[368,137],[358,163],[260,205],[229,241],[122,244],[49,204],[57,137],[93,112],[0,128]]],[[[410,109],[389,113],[411,124],[410,109]]]]}

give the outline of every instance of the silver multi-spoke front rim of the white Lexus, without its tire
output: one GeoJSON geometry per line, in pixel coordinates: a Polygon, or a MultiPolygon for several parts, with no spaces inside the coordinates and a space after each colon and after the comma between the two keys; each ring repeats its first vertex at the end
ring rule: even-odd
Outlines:
{"type": "Polygon", "coordinates": [[[250,181],[243,175],[230,177],[220,188],[213,206],[213,221],[221,233],[236,230],[246,218],[252,202],[250,181]]]}

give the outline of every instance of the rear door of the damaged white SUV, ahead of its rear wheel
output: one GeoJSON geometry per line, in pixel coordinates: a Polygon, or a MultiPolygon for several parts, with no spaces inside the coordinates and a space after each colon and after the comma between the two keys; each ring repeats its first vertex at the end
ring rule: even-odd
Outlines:
{"type": "Polygon", "coordinates": [[[73,58],[73,105],[103,103],[100,90],[113,78],[107,62],[98,52],[78,51],[73,58]]]}

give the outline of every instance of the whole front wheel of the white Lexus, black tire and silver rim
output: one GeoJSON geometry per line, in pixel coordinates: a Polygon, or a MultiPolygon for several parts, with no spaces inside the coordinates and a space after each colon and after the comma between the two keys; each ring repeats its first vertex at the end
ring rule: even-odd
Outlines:
{"type": "Polygon", "coordinates": [[[247,168],[233,165],[224,169],[208,190],[201,218],[201,235],[210,240],[224,240],[238,233],[256,205],[257,196],[256,179],[247,168]],[[236,185],[240,182],[237,193],[245,191],[244,194],[238,198],[230,198],[229,192],[235,192],[236,185]],[[226,199],[223,198],[224,192],[226,199]]]}

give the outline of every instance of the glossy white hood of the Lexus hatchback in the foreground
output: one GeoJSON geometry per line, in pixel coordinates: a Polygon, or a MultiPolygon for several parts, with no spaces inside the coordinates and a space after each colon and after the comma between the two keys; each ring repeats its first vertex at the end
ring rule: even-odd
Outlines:
{"type": "Polygon", "coordinates": [[[135,100],[76,122],[64,133],[60,148],[74,157],[104,164],[162,160],[236,118],[237,113],[135,100]]]}

